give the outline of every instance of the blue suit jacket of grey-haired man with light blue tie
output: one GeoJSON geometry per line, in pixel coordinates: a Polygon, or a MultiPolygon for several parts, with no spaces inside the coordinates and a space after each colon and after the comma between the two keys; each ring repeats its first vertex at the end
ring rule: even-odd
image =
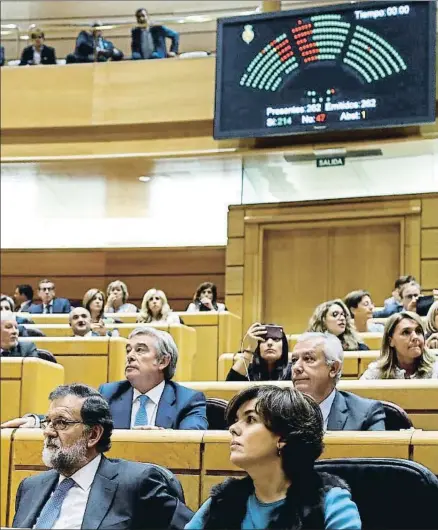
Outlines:
{"type": "MultiPolygon", "coordinates": [[[[129,381],[105,383],[99,392],[108,401],[115,429],[131,428],[132,397],[129,381]]],[[[158,403],[157,427],[165,429],[208,429],[205,396],[173,381],[166,381],[158,403]]]]}

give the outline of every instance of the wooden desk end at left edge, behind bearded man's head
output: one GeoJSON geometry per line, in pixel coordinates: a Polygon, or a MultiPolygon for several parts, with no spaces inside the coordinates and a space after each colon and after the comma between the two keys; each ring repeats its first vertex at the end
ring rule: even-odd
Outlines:
{"type": "Polygon", "coordinates": [[[32,357],[0,359],[0,422],[47,412],[50,392],[64,384],[64,368],[32,357]]]}

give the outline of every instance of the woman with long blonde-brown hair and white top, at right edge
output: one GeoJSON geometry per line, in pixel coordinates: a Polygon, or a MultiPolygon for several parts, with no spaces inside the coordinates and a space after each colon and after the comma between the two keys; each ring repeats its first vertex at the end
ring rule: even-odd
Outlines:
{"type": "Polygon", "coordinates": [[[438,379],[438,360],[426,348],[421,317],[400,311],[388,318],[380,357],[361,379],[438,379]]]}

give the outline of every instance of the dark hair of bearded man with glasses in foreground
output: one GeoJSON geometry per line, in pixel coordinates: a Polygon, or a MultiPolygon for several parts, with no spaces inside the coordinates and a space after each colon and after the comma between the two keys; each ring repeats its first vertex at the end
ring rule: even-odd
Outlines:
{"type": "Polygon", "coordinates": [[[96,449],[100,453],[105,453],[111,447],[111,434],[113,432],[113,419],[110,408],[105,398],[99,392],[81,383],[71,385],[60,385],[50,392],[49,400],[59,399],[65,396],[77,396],[85,398],[81,407],[81,419],[85,425],[93,427],[101,425],[103,427],[102,437],[96,444],[96,449]]]}

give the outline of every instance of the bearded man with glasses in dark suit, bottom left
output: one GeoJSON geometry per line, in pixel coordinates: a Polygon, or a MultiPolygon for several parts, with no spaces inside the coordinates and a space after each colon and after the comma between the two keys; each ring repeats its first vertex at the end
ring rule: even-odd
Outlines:
{"type": "Polygon", "coordinates": [[[193,512],[173,473],[105,457],[113,421],[94,388],[61,385],[49,401],[42,459],[51,469],[21,481],[14,528],[184,528],[193,512]]]}

